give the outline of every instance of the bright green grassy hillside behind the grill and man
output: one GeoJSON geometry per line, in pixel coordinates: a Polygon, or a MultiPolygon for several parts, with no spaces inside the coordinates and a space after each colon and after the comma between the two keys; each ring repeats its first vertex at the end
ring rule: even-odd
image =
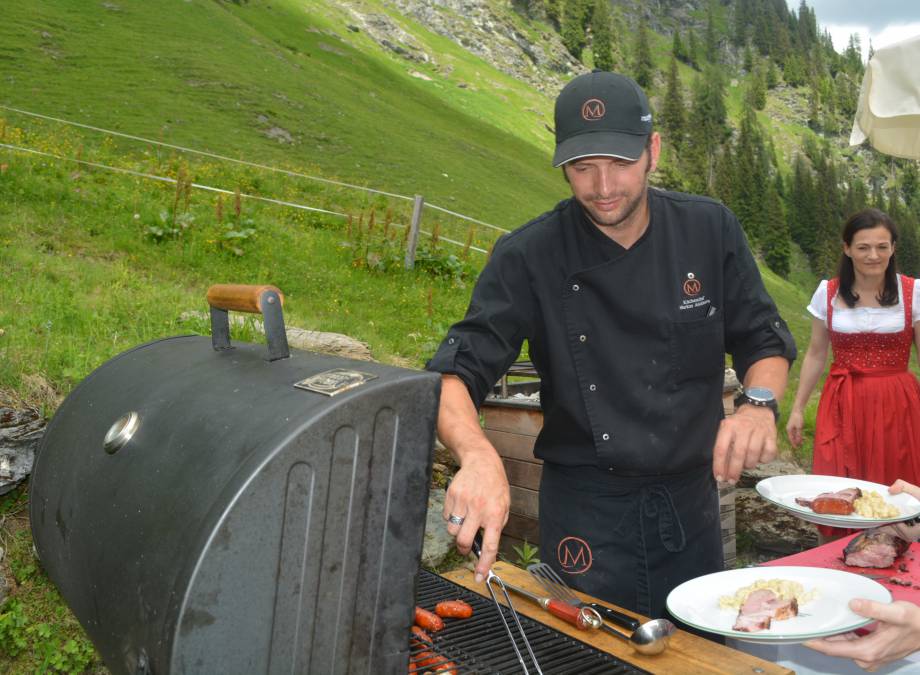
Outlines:
{"type": "MultiPolygon", "coordinates": [[[[361,6],[392,11],[376,0],[361,6]]],[[[552,101],[399,20],[436,63],[381,51],[348,29],[349,15],[335,3],[7,2],[0,104],[420,193],[508,228],[565,196],[549,167],[552,101]],[[290,142],[276,140],[285,133],[290,142]]],[[[662,62],[666,49],[656,38],[662,62]]],[[[186,196],[171,184],[0,148],[0,403],[38,405],[50,414],[115,354],[159,337],[206,332],[204,322],[181,316],[205,310],[207,287],[225,281],[274,283],[287,295],[289,324],[347,333],[381,360],[417,367],[461,316],[484,260],[425,237],[419,268],[402,270],[397,226],[411,207],[403,200],[2,109],[0,143],[354,216],[349,225],[247,199],[237,214],[232,195],[186,196]]],[[[434,212],[424,222],[484,248],[496,234],[434,212]]],[[[804,347],[812,282],[803,264],[796,269],[801,287],[769,272],[764,277],[804,347]]],[[[251,330],[239,337],[258,339],[251,330]]],[[[0,547],[14,583],[14,601],[0,608],[0,672],[97,668],[32,559],[26,504],[27,490],[0,501],[0,547]]]]}

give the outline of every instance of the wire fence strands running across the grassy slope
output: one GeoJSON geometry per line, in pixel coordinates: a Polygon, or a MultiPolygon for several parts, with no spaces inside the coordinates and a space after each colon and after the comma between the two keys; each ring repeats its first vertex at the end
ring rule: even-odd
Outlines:
{"type": "MultiPolygon", "coordinates": [[[[24,110],[24,109],[22,109],[22,108],[15,108],[15,107],[13,107],[13,106],[4,105],[4,104],[2,104],[2,103],[0,103],[0,110],[5,110],[5,111],[11,112],[11,113],[18,114],[18,115],[23,115],[23,116],[26,116],[26,117],[31,117],[31,118],[33,118],[33,119],[43,120],[43,121],[45,121],[45,122],[52,122],[52,123],[58,124],[58,125],[63,125],[63,126],[67,126],[67,127],[76,128],[76,129],[84,129],[84,130],[87,130],[87,131],[92,131],[92,132],[94,132],[94,133],[103,134],[103,135],[105,135],[105,136],[107,136],[107,137],[122,138],[122,139],[130,140],[130,141],[134,141],[134,142],[143,143],[143,144],[146,144],[146,145],[158,147],[158,148],[166,148],[166,149],[169,149],[169,150],[173,150],[173,151],[176,151],[176,152],[181,152],[181,153],[188,154],[188,155],[199,156],[199,157],[206,157],[206,158],[214,159],[214,160],[217,160],[217,161],[220,161],[220,162],[227,162],[227,163],[231,163],[231,164],[236,164],[236,165],[240,165],[240,166],[245,166],[245,167],[248,167],[248,168],[250,168],[250,169],[256,169],[256,170],[258,170],[258,171],[265,171],[265,172],[270,172],[270,173],[277,173],[277,174],[281,174],[281,175],[284,175],[284,176],[289,176],[289,177],[292,177],[292,178],[298,178],[298,179],[303,179],[303,180],[309,180],[309,181],[313,181],[313,182],[320,183],[320,184],[325,184],[325,185],[329,185],[329,186],[334,186],[334,187],[337,187],[337,188],[345,188],[345,189],[348,189],[348,190],[362,191],[362,192],[365,192],[365,193],[368,193],[368,194],[379,195],[379,196],[381,196],[381,197],[386,197],[386,198],[396,199],[396,200],[411,201],[411,202],[413,202],[413,203],[417,203],[417,202],[419,201],[419,199],[420,199],[420,196],[419,196],[419,195],[415,195],[415,196],[402,195],[402,194],[398,194],[398,193],[394,193],[394,192],[388,192],[388,191],[386,191],[386,190],[379,190],[379,189],[375,189],[375,188],[371,188],[371,187],[367,187],[367,186],[356,185],[356,184],[354,184],[354,183],[348,183],[348,182],[344,182],[344,181],[333,180],[333,179],[331,179],[331,178],[325,178],[325,177],[321,177],[321,176],[313,176],[313,175],[310,175],[310,174],[306,174],[306,173],[299,172],[299,171],[294,171],[294,170],[291,170],[291,169],[284,169],[284,168],[281,168],[281,167],[270,166],[270,165],[261,164],[261,163],[258,163],[258,162],[251,162],[251,161],[248,161],[248,160],[245,160],[245,159],[237,159],[237,158],[234,158],[234,157],[228,157],[228,156],[226,156],[226,155],[221,155],[221,154],[209,152],[209,151],[206,151],[206,150],[198,150],[198,149],[196,149],[196,148],[191,148],[191,147],[187,147],[187,146],[183,146],[183,145],[178,145],[178,144],[174,144],[174,143],[167,143],[167,142],[165,142],[165,141],[159,141],[159,140],[155,140],[155,139],[151,139],[151,138],[146,138],[146,137],[143,137],[143,136],[137,136],[137,135],[134,135],[134,134],[127,134],[127,133],[123,133],[123,132],[120,132],[120,131],[115,131],[115,130],[112,130],[112,129],[105,129],[105,128],[103,128],[103,127],[97,127],[97,126],[93,126],[93,125],[89,125],[89,124],[83,124],[83,123],[81,123],[81,122],[75,122],[75,121],[73,121],[73,120],[67,120],[67,119],[62,119],[62,118],[59,118],[59,117],[53,117],[53,116],[50,116],[50,115],[44,115],[44,114],[41,114],[41,113],[36,113],[36,112],[33,112],[33,111],[24,110]]],[[[46,152],[46,151],[39,151],[39,150],[36,150],[36,149],[34,149],[34,148],[26,148],[26,147],[23,147],[23,146],[16,146],[16,145],[13,145],[13,144],[0,144],[0,147],[6,148],[6,149],[12,150],[12,151],[17,151],[17,152],[25,152],[25,153],[35,154],[35,155],[41,155],[41,156],[45,156],[45,157],[48,157],[48,158],[52,158],[52,159],[55,159],[55,160],[58,160],[58,161],[73,162],[73,163],[76,163],[76,164],[80,164],[80,165],[84,165],[84,166],[91,166],[91,167],[93,167],[93,168],[102,169],[102,170],[106,170],[106,171],[113,171],[113,172],[117,172],[117,173],[128,174],[128,175],[132,175],[132,176],[135,176],[135,177],[138,177],[138,178],[144,178],[144,179],[148,179],[148,180],[155,180],[155,181],[160,181],[160,182],[164,182],[164,183],[173,183],[173,184],[175,184],[175,183],[177,182],[177,179],[175,179],[175,178],[170,178],[170,177],[167,177],[167,176],[156,175],[156,174],[152,174],[152,173],[149,173],[149,172],[143,172],[143,171],[135,171],[135,170],[126,169],[126,168],[123,168],[123,167],[115,167],[115,166],[112,166],[112,165],[108,165],[108,164],[104,164],[104,163],[99,163],[99,162],[90,162],[90,161],[81,159],[81,158],[79,158],[79,157],[68,157],[68,156],[63,156],[63,155],[56,154],[56,153],[50,153],[50,152],[46,152]]],[[[294,202],[294,201],[290,201],[290,200],[277,199],[277,198],[273,198],[273,197],[261,196],[261,195],[251,194],[251,193],[241,193],[241,192],[239,192],[238,190],[228,190],[228,189],[225,189],[225,188],[215,187],[215,186],[212,186],[212,185],[206,185],[206,184],[198,183],[198,182],[193,182],[193,183],[190,183],[189,185],[190,185],[190,187],[195,188],[195,189],[205,190],[205,191],[210,191],[210,192],[216,192],[216,193],[223,193],[223,194],[238,194],[238,193],[239,193],[241,197],[244,197],[244,198],[246,198],[246,199],[250,199],[250,200],[254,200],[254,201],[261,201],[261,202],[266,202],[266,203],[271,203],[271,204],[275,204],[275,205],[279,205],[279,206],[284,206],[284,207],[295,208],[295,209],[299,209],[299,210],[303,210],[303,211],[312,211],[312,212],[323,213],[323,214],[332,215],[332,216],[337,216],[337,217],[342,217],[342,218],[348,218],[348,217],[349,217],[348,214],[342,213],[341,211],[335,211],[335,210],[330,210],[330,209],[324,209],[324,208],[320,208],[320,207],[316,207],[316,206],[309,206],[309,205],[306,205],[306,204],[302,204],[302,203],[298,203],[298,202],[294,202]]],[[[452,218],[456,218],[456,219],[459,220],[459,221],[463,221],[463,222],[466,222],[466,223],[472,223],[472,224],[475,225],[475,226],[483,227],[483,228],[485,228],[485,229],[487,229],[487,230],[489,230],[489,231],[492,231],[493,233],[504,234],[504,233],[507,233],[507,232],[510,231],[510,230],[508,230],[508,229],[506,229],[506,228],[499,227],[499,226],[497,226],[497,225],[493,225],[492,223],[488,223],[488,222],[483,221],[483,220],[480,220],[480,219],[478,219],[478,218],[473,218],[473,217],[468,216],[468,215],[466,215],[466,214],[459,213],[459,212],[457,212],[457,211],[453,211],[453,210],[451,210],[451,209],[444,208],[444,207],[439,206],[439,205],[437,205],[437,204],[432,204],[432,203],[427,202],[427,201],[425,201],[425,200],[421,200],[421,204],[422,204],[422,208],[431,209],[432,211],[436,211],[436,212],[438,212],[438,213],[442,213],[442,214],[448,215],[448,216],[450,216],[450,217],[452,217],[452,218]]],[[[431,230],[422,229],[422,228],[421,228],[421,219],[422,219],[421,211],[419,210],[418,213],[415,214],[415,216],[416,216],[416,217],[413,218],[413,220],[412,220],[411,223],[408,223],[408,224],[406,224],[406,225],[400,225],[399,223],[394,223],[394,225],[397,226],[397,227],[411,227],[411,228],[414,228],[414,232],[416,232],[417,234],[423,234],[423,235],[426,235],[426,236],[428,236],[428,237],[435,236],[435,232],[436,232],[436,231],[439,231],[439,230],[441,229],[440,223],[437,223],[437,224],[435,225],[435,227],[432,228],[431,230]]],[[[415,236],[417,236],[417,234],[416,234],[415,236]]],[[[487,242],[487,243],[491,243],[491,241],[494,240],[494,237],[495,237],[495,236],[496,236],[496,235],[493,234],[492,237],[486,238],[485,240],[480,239],[480,240],[478,240],[478,241],[484,241],[484,243],[486,243],[486,242],[487,242]]],[[[456,235],[455,235],[454,237],[456,237],[456,235]]],[[[456,238],[454,238],[454,237],[449,236],[449,235],[448,235],[448,236],[445,236],[444,234],[440,234],[440,232],[438,232],[438,234],[437,234],[437,239],[438,239],[438,241],[443,241],[443,242],[448,243],[448,244],[451,244],[451,245],[453,245],[453,246],[462,247],[464,250],[473,250],[473,251],[476,251],[476,252],[478,252],[478,253],[487,253],[487,252],[488,252],[488,250],[487,250],[486,248],[483,248],[482,246],[476,246],[475,244],[473,244],[473,235],[472,235],[472,231],[468,233],[467,241],[465,241],[465,242],[460,241],[460,238],[459,238],[459,237],[456,237],[456,238]]],[[[407,260],[407,263],[408,263],[408,260],[407,260]]]]}

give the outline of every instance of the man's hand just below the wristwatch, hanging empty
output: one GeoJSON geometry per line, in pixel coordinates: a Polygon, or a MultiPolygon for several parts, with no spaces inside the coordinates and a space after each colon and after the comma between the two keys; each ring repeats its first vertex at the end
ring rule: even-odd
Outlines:
{"type": "Polygon", "coordinates": [[[744,469],[776,458],[776,418],[773,411],[743,405],[719,425],[712,451],[712,474],[717,481],[735,483],[744,469]]]}

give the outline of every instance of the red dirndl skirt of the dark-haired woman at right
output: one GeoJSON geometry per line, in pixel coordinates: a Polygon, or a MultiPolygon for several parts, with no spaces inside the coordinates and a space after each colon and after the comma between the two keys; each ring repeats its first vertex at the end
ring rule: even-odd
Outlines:
{"type": "MultiPolygon", "coordinates": [[[[831,366],[818,404],[812,473],[920,484],[920,383],[906,370],[831,366]]],[[[829,537],[841,528],[819,526],[829,537]]]]}

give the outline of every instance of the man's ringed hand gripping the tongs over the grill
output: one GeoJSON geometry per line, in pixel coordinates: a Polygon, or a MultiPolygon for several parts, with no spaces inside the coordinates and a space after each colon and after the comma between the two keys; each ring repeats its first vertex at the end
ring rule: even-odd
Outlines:
{"type": "Polygon", "coordinates": [[[447,488],[444,520],[453,514],[463,518],[462,525],[448,522],[447,532],[457,538],[457,549],[470,552],[473,538],[483,529],[482,555],[476,563],[476,581],[482,581],[498,556],[498,542],[508,521],[511,492],[505,467],[495,449],[489,445],[467,453],[463,465],[447,488]]]}

